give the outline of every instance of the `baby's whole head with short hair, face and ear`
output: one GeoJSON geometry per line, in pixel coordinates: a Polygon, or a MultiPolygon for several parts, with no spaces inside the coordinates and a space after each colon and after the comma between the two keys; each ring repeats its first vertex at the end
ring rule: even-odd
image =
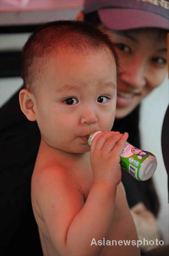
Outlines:
{"type": "Polygon", "coordinates": [[[50,146],[89,151],[90,133],[111,130],[114,122],[117,70],[118,57],[106,34],[83,22],[48,23],[23,48],[21,110],[37,120],[50,146]]]}

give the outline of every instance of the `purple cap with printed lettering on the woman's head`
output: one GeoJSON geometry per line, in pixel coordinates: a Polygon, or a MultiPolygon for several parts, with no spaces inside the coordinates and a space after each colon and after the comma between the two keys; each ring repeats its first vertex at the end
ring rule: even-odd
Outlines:
{"type": "Polygon", "coordinates": [[[85,0],[85,14],[97,11],[109,29],[169,29],[168,0],[85,0]]]}

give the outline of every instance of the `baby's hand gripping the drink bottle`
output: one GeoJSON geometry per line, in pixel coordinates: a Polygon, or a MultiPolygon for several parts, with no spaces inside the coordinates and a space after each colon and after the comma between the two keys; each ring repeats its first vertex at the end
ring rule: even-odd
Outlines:
{"type": "Polygon", "coordinates": [[[91,165],[94,183],[109,182],[118,185],[121,181],[120,155],[128,133],[102,132],[91,144],[91,165]]]}

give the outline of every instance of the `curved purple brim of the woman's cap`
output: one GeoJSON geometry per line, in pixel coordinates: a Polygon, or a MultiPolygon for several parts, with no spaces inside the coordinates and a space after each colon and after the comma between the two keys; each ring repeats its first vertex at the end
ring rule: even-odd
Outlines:
{"type": "Polygon", "coordinates": [[[100,9],[98,15],[107,28],[114,30],[145,27],[169,29],[167,18],[145,10],[100,9]]]}

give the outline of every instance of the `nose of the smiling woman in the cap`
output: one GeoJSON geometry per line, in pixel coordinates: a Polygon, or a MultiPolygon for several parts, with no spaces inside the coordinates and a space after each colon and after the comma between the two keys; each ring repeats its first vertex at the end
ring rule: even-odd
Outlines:
{"type": "Polygon", "coordinates": [[[135,65],[128,65],[120,73],[120,78],[133,88],[142,88],[146,85],[146,71],[142,65],[135,63],[135,65]]]}

